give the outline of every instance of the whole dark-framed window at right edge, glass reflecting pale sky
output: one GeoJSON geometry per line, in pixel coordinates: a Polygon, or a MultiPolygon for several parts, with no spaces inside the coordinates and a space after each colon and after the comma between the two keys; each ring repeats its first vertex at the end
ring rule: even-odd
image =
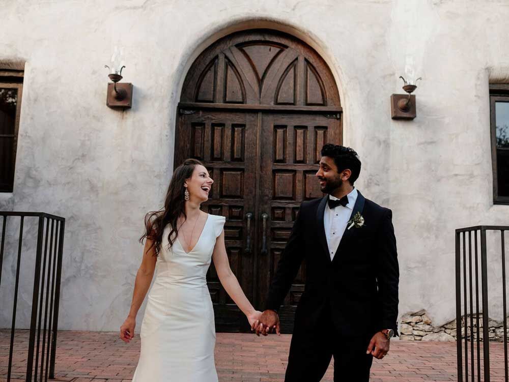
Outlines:
{"type": "Polygon", "coordinates": [[[509,83],[490,85],[493,201],[509,204],[509,83]]]}

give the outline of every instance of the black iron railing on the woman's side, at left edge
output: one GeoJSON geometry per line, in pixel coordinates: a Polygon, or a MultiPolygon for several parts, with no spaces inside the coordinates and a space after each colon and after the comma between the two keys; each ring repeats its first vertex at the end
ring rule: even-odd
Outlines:
{"type": "MultiPolygon", "coordinates": [[[[4,260],[7,224],[8,222],[11,224],[11,221],[16,222],[19,218],[19,233],[16,234],[17,265],[14,283],[7,382],[10,382],[11,380],[13,351],[15,347],[14,332],[16,325],[19,273],[23,248],[23,223],[25,222],[25,218],[38,218],[34,289],[32,294],[32,312],[30,320],[29,347],[27,349],[26,357],[25,380],[26,382],[37,382],[37,380],[47,381],[48,374],[49,378],[54,378],[65,219],[60,216],[39,212],[0,211],[0,217],[3,217],[2,241],[0,242],[0,287],[2,286],[2,266],[4,260]],[[42,320],[43,313],[44,321],[42,320]]],[[[14,243],[15,242],[16,240],[14,240],[14,243]]],[[[24,263],[26,262],[24,261],[24,263]]],[[[19,350],[20,349],[18,349],[18,351],[19,350]]]]}

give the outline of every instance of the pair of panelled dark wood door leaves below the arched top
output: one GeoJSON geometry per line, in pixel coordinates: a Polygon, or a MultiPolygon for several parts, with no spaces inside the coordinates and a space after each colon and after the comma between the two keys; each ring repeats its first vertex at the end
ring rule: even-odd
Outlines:
{"type": "MultiPolygon", "coordinates": [[[[187,157],[199,159],[214,179],[202,208],[227,218],[224,232],[230,266],[247,298],[261,308],[300,202],[323,195],[315,176],[320,150],[324,143],[341,143],[341,121],[318,113],[198,110],[180,114],[177,137],[182,144],[176,165],[187,157]],[[249,231],[248,213],[252,214],[249,231]],[[265,229],[263,214],[267,214],[265,229]]],[[[303,265],[281,308],[287,333],[293,328],[305,272],[303,265]]],[[[216,330],[247,332],[245,317],[221,287],[213,265],[207,280],[216,330]]]]}

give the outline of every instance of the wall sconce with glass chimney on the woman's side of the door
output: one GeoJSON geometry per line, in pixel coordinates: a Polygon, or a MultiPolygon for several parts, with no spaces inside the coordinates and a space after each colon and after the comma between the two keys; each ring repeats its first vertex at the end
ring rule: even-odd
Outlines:
{"type": "Polygon", "coordinates": [[[109,69],[108,77],[112,81],[108,83],[106,106],[128,109],[132,105],[132,83],[119,83],[122,79],[122,69],[125,68],[122,50],[119,51],[115,47],[115,52],[111,56],[111,67],[104,65],[105,68],[109,69]]]}

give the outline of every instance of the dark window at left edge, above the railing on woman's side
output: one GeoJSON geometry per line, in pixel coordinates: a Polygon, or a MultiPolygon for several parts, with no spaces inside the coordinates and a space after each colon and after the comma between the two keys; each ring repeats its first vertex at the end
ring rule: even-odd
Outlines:
{"type": "Polygon", "coordinates": [[[0,192],[12,192],[23,72],[0,71],[0,192]]]}

